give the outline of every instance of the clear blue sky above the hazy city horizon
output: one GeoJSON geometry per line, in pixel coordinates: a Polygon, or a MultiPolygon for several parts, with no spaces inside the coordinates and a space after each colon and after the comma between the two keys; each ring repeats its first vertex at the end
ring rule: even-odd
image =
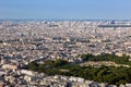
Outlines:
{"type": "Polygon", "coordinates": [[[131,0],[0,0],[0,18],[131,20],[131,0]]]}

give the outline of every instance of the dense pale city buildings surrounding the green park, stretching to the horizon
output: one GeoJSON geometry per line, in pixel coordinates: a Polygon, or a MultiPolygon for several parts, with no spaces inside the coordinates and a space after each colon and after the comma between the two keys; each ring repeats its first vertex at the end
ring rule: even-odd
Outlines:
{"type": "Polygon", "coordinates": [[[0,21],[0,86],[117,87],[24,69],[45,60],[82,62],[81,54],[87,53],[131,57],[131,21],[0,21]]]}

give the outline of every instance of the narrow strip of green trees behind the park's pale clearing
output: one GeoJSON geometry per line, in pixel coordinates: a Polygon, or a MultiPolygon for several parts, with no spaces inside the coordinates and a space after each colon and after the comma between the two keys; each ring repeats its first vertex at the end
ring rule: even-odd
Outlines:
{"type": "Polygon", "coordinates": [[[115,54],[99,54],[99,55],[93,55],[93,54],[82,54],[81,58],[83,61],[111,61],[118,64],[128,64],[131,65],[131,57],[123,54],[122,57],[118,57],[115,54]]]}

